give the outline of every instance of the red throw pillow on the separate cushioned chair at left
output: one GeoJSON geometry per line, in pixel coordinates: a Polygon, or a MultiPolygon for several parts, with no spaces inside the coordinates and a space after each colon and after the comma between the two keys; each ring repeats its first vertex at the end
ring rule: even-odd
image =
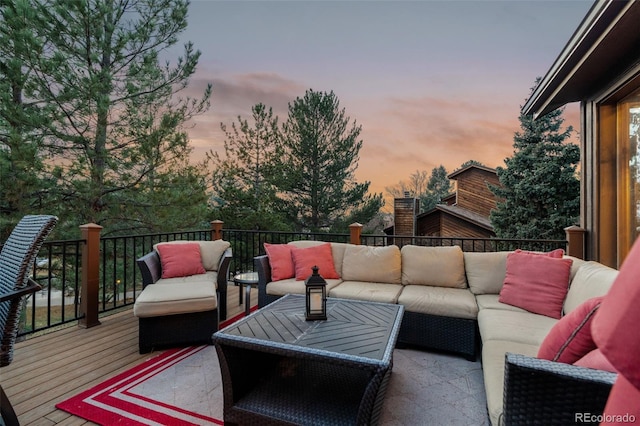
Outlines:
{"type": "Polygon", "coordinates": [[[198,243],[158,244],[156,249],[162,264],[162,278],[187,277],[206,272],[198,243]]]}

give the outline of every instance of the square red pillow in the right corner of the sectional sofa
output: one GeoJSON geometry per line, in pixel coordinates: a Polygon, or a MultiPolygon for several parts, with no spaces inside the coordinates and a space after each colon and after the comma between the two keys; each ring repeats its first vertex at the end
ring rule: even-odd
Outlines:
{"type": "Polygon", "coordinates": [[[569,290],[571,259],[513,252],[507,255],[507,272],[499,301],[535,314],[560,319],[569,290]]]}

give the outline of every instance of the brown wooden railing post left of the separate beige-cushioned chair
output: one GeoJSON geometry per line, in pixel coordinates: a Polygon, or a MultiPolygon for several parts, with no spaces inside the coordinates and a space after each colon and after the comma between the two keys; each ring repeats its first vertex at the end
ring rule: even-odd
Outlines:
{"type": "Polygon", "coordinates": [[[82,246],[82,288],[80,313],[84,315],[78,326],[91,328],[100,325],[98,320],[98,294],[100,293],[100,230],[95,223],[81,225],[85,243],[82,246]]]}

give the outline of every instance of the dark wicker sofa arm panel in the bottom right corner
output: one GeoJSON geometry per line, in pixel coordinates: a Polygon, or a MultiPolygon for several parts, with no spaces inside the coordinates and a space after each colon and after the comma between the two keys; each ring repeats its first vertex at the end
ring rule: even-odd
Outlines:
{"type": "Polygon", "coordinates": [[[616,374],[519,354],[506,354],[505,425],[584,425],[602,414],[616,374]]]}

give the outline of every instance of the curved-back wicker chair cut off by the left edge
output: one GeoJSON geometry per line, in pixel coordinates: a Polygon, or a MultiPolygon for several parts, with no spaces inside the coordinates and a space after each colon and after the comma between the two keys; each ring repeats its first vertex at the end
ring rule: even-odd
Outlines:
{"type": "MultiPolygon", "coordinates": [[[[36,255],[58,218],[23,217],[0,251],[0,367],[13,360],[24,296],[40,290],[29,274],[36,255]]],[[[0,416],[6,425],[18,425],[18,417],[0,386],[0,416]]]]}

